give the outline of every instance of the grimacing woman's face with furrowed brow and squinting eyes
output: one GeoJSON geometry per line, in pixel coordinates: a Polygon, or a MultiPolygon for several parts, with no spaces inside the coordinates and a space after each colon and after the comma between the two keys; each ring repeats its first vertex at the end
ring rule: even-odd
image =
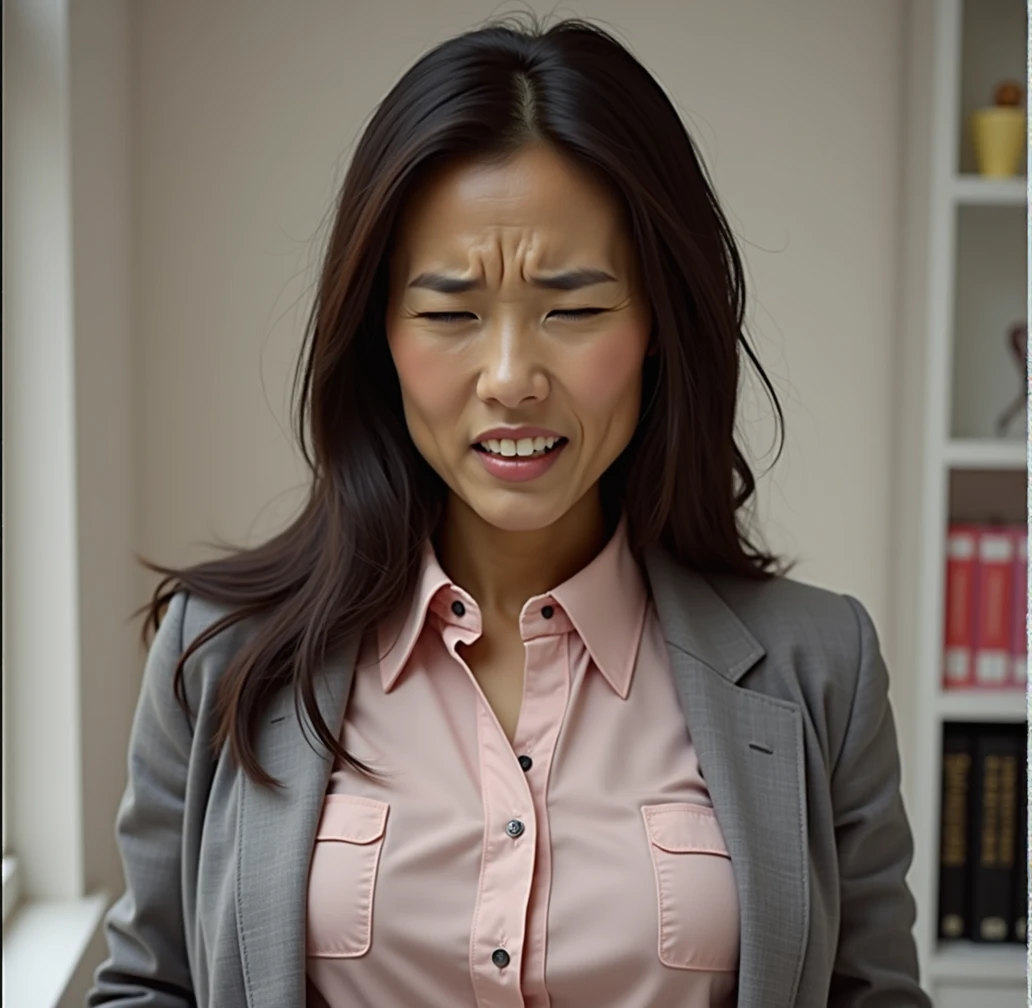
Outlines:
{"type": "Polygon", "coordinates": [[[557,522],[626,447],[650,318],[619,204],[544,147],[413,198],[387,339],[409,431],[501,529],[557,522]]]}

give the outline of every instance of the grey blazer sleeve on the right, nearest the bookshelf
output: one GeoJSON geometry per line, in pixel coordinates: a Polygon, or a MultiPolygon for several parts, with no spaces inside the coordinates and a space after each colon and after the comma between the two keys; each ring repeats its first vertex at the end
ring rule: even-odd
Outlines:
{"type": "Polygon", "coordinates": [[[889,673],[870,615],[857,618],[852,708],[832,771],[842,920],[829,1008],[931,1008],[918,983],[916,909],[906,883],[913,838],[900,795],[889,673]]]}

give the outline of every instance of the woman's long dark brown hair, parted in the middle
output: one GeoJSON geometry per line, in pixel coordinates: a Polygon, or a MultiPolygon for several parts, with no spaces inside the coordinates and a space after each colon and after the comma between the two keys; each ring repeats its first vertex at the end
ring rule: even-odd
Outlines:
{"type": "MultiPolygon", "coordinates": [[[[755,480],[735,443],[740,351],[784,415],[743,332],[745,284],[728,222],[696,148],[656,80],[607,31],[581,20],[493,21],[423,56],[391,89],[347,171],[295,372],[295,419],[312,474],[300,514],[253,549],[166,567],[144,610],[144,644],[187,590],[229,612],[175,669],[189,714],[186,659],[226,627],[260,617],[219,685],[214,745],[257,783],[253,731],[270,696],[292,686],[319,740],[361,772],[321,717],[315,677],[327,653],[411,596],[420,549],[445,485],[416,451],[384,331],[387,263],[407,199],[453,159],[505,158],[548,144],[604,180],[621,201],[639,256],[656,353],[642,413],[603,479],[639,558],[660,544],[703,573],[767,579],[779,558],[747,538],[742,509],[755,480]],[[299,394],[298,394],[299,393],[299,394]]],[[[776,458],[775,458],[776,461],[776,458]]],[[[226,547],[220,547],[227,549],[226,547]]]]}

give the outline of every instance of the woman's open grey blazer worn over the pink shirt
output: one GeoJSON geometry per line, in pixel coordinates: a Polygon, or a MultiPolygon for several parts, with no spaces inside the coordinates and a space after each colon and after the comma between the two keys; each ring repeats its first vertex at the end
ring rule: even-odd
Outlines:
{"type": "MultiPolygon", "coordinates": [[[[867,611],[789,578],[703,577],[659,551],[646,573],[738,884],[740,1008],[930,1008],[888,673],[867,611]]],[[[221,613],[181,592],[151,646],[117,822],[126,891],[106,915],[109,955],[88,1005],[305,1004],[307,876],[331,761],[286,689],[257,736],[283,791],[212,758],[216,685],[253,626],[187,663],[192,727],[171,684],[221,613]]],[[[355,651],[320,676],[330,724],[355,651]]]]}

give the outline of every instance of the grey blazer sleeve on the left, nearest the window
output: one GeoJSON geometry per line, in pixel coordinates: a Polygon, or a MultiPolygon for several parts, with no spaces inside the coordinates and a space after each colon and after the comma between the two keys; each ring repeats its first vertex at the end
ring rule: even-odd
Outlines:
{"type": "Polygon", "coordinates": [[[151,643],[129,739],[129,780],[116,819],[126,888],[104,917],[108,955],[89,1008],[194,1006],[183,923],[183,808],[192,731],[172,692],[187,593],[172,596],[151,643]]]}

